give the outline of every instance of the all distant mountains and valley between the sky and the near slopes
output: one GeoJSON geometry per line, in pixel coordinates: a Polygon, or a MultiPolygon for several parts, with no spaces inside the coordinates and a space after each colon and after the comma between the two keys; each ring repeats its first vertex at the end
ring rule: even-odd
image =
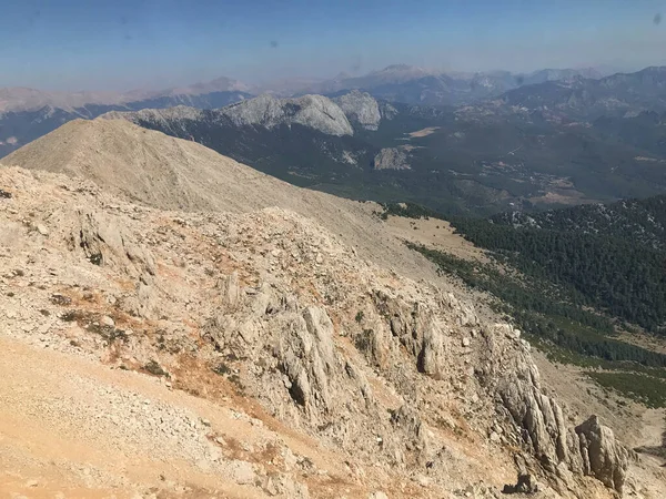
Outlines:
{"type": "Polygon", "coordinates": [[[666,70],[599,77],[592,70],[442,74],[393,65],[314,86],[301,80],[321,92],[306,94],[283,85],[253,96],[255,90],[229,79],[113,99],[6,92],[0,155],[72,119],[108,114],[193,140],[296,185],[447,214],[663,193],[666,70]]]}

